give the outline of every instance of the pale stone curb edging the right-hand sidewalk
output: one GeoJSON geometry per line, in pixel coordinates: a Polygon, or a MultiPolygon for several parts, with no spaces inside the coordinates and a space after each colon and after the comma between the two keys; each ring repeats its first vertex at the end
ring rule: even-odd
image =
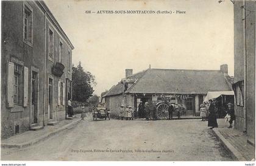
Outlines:
{"type": "Polygon", "coordinates": [[[228,140],[226,140],[224,138],[224,136],[222,136],[221,133],[219,133],[218,129],[213,128],[213,133],[216,134],[216,136],[218,137],[218,139],[221,141],[221,144],[223,145],[223,147],[229,152],[230,156],[235,160],[235,161],[247,161],[246,158],[243,157],[243,155],[236,150],[235,147],[233,147],[233,145],[231,145],[229,143],[228,140]]]}

